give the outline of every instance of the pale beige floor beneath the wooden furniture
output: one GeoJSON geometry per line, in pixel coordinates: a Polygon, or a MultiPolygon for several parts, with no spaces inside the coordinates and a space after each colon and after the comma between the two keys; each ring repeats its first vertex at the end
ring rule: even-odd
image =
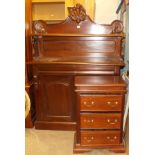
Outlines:
{"type": "MultiPolygon", "coordinates": [[[[73,131],[25,130],[25,155],[73,155],[73,131]]],[[[77,155],[127,155],[94,150],[77,155]]]]}

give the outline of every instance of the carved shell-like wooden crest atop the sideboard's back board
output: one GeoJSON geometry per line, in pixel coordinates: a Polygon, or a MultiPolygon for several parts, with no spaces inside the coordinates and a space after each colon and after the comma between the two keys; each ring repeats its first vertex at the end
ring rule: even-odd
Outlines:
{"type": "Polygon", "coordinates": [[[69,17],[78,24],[86,19],[86,10],[81,4],[76,4],[75,7],[69,7],[68,11],[69,17]]]}

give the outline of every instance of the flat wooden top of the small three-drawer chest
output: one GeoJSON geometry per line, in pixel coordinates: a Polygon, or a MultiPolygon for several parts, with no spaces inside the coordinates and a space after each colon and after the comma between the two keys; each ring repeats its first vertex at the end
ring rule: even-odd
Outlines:
{"type": "Polygon", "coordinates": [[[75,86],[126,86],[120,76],[76,76],[75,86]]]}

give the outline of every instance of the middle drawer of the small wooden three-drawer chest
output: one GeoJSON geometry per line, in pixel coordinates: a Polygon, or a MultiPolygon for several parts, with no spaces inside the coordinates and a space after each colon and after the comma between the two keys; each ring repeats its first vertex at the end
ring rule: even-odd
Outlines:
{"type": "Polygon", "coordinates": [[[81,113],[82,129],[120,129],[121,114],[81,113]]]}

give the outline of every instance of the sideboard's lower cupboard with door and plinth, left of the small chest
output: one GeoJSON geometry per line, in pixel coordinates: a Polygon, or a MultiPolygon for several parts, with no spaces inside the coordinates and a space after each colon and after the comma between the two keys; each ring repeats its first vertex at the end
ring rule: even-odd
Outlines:
{"type": "Polygon", "coordinates": [[[38,75],[36,128],[75,129],[73,84],[73,76],[38,75]]]}

